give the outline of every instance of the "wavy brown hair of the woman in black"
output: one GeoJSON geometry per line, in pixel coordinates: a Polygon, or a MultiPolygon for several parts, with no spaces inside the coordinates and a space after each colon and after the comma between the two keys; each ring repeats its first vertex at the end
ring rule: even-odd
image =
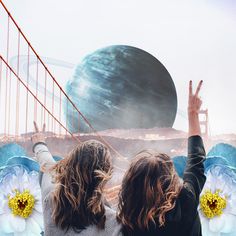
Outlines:
{"type": "Polygon", "coordinates": [[[174,208],[181,190],[174,164],[166,154],[145,150],[138,153],[126,172],[119,193],[117,219],[123,234],[151,225],[165,225],[165,215],[174,208]]]}

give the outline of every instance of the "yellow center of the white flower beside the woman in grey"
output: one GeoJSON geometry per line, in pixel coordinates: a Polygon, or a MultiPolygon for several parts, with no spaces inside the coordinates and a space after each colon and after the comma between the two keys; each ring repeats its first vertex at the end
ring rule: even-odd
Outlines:
{"type": "Polygon", "coordinates": [[[15,196],[8,196],[8,206],[12,210],[14,216],[28,218],[34,209],[35,199],[29,190],[20,193],[15,190],[15,196]]]}

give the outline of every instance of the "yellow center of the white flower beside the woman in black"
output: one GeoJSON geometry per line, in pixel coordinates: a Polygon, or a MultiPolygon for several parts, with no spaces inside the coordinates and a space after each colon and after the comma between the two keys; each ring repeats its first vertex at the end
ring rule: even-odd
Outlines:
{"type": "Polygon", "coordinates": [[[207,218],[220,216],[227,205],[226,198],[221,197],[219,192],[207,190],[200,198],[200,208],[207,218]]]}

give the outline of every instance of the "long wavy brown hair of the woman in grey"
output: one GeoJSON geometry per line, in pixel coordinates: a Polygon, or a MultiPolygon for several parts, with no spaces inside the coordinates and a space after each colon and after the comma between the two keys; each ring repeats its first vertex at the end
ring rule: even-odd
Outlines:
{"type": "Polygon", "coordinates": [[[53,171],[57,184],[52,193],[55,224],[76,232],[89,225],[103,229],[103,188],[112,172],[108,148],[96,140],[80,143],[53,171]]]}

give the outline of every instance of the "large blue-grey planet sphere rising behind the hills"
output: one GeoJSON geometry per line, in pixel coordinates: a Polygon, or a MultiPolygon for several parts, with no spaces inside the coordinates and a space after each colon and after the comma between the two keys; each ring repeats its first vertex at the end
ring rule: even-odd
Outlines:
{"type": "MultiPolygon", "coordinates": [[[[108,46],[87,55],[66,92],[96,130],[172,127],[176,117],[170,74],[154,56],[132,46],[108,46]]],[[[89,131],[70,106],[65,110],[71,132],[89,131]]]]}

